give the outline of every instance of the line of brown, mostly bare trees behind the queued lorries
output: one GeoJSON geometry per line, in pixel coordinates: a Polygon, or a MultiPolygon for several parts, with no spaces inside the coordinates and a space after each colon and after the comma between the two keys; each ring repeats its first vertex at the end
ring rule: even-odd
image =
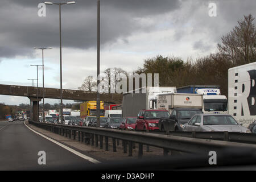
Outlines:
{"type": "MultiPolygon", "coordinates": [[[[220,85],[221,93],[228,96],[228,69],[256,61],[254,17],[251,14],[243,16],[237,23],[233,30],[221,37],[216,53],[186,61],[180,57],[158,55],[144,60],[142,67],[134,73],[159,73],[159,86],[220,85]]],[[[113,69],[113,75],[110,75],[110,68],[104,71],[109,79],[119,73],[127,75],[121,68],[113,69]]],[[[96,78],[89,76],[79,89],[95,91],[96,86],[96,78]]],[[[109,84],[109,90],[111,86],[109,84]]]]}

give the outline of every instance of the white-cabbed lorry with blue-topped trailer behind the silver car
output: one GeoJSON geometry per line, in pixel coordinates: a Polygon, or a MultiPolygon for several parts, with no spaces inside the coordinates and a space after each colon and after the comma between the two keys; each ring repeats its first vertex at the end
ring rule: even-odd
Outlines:
{"type": "Polygon", "coordinates": [[[203,113],[228,113],[228,99],[221,95],[218,85],[188,85],[177,88],[177,93],[203,94],[203,113]]]}

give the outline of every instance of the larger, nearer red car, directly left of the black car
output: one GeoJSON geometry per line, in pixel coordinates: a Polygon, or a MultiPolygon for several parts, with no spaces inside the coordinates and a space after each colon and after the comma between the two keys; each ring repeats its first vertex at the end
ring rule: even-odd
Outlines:
{"type": "Polygon", "coordinates": [[[159,130],[158,122],[160,118],[169,118],[168,110],[146,110],[139,111],[136,119],[135,130],[159,130]]]}

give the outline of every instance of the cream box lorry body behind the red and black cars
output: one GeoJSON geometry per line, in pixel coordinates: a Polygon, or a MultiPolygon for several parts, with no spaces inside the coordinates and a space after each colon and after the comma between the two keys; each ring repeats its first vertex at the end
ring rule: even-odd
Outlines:
{"type": "Polygon", "coordinates": [[[168,93],[159,94],[156,98],[156,109],[168,110],[174,108],[195,108],[203,109],[202,94],[168,93]]]}

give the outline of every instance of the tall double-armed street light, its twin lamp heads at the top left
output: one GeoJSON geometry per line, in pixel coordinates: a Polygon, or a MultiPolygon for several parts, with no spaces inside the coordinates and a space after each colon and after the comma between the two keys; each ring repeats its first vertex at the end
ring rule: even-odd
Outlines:
{"type": "Polygon", "coordinates": [[[62,55],[61,55],[61,5],[73,5],[75,1],[66,3],[52,3],[44,2],[46,5],[59,5],[59,18],[60,18],[60,121],[63,123],[63,101],[62,101],[62,55]]]}

